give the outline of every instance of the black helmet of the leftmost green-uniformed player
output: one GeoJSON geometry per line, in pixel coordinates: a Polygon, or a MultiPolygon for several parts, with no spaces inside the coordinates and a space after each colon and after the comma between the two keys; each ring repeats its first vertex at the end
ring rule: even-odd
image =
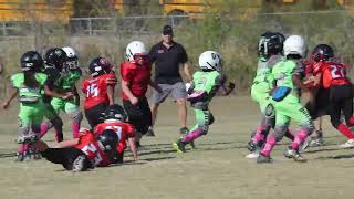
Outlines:
{"type": "Polygon", "coordinates": [[[21,56],[22,71],[40,71],[44,66],[42,56],[35,51],[28,51],[21,56]]]}

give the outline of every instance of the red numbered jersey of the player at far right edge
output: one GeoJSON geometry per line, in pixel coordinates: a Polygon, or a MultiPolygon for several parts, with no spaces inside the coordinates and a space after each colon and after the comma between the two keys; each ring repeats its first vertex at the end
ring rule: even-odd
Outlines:
{"type": "Polygon", "coordinates": [[[322,86],[329,88],[331,85],[350,84],[346,77],[346,67],[337,62],[319,62],[314,67],[314,75],[322,74],[322,86]]]}

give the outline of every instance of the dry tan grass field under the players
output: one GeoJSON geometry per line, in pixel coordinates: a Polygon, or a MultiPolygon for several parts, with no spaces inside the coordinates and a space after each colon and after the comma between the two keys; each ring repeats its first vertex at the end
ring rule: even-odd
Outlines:
{"type": "MultiPolygon", "coordinates": [[[[14,105],[15,106],[15,105],[14,105]]],[[[246,144],[259,119],[258,106],[249,97],[218,97],[211,104],[216,117],[197,149],[177,155],[177,106],[160,106],[156,137],[143,138],[139,161],[127,153],[126,164],[73,174],[45,160],[14,163],[15,108],[0,112],[1,199],[223,199],[353,197],[354,150],[340,149],[345,142],[325,118],[326,146],[304,153],[305,164],[285,159],[284,139],[275,147],[273,164],[246,159],[246,144]]],[[[194,115],[189,113],[189,124],[194,115]]],[[[84,123],[86,124],[86,123],[84,123]]],[[[69,132],[67,127],[65,127],[69,132]]],[[[53,140],[53,134],[45,140],[53,140]]],[[[70,137],[67,133],[66,137],[70,137]]],[[[53,143],[52,143],[53,144],[53,143]]]]}

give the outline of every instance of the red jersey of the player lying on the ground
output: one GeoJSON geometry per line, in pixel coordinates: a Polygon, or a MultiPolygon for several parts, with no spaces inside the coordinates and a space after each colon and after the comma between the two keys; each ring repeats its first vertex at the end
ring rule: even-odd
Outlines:
{"type": "Polygon", "coordinates": [[[100,148],[97,139],[90,130],[81,132],[79,144],[74,147],[82,150],[95,166],[106,167],[111,164],[107,155],[100,148]]]}

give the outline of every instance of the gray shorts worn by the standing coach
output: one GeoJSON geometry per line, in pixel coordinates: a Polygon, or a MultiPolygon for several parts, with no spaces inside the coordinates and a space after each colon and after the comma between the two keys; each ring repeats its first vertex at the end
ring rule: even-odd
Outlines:
{"type": "Polygon", "coordinates": [[[170,94],[175,101],[187,98],[186,85],[183,82],[177,82],[175,84],[158,84],[158,86],[163,90],[163,92],[158,93],[154,90],[152,96],[152,103],[154,104],[164,102],[168,94],[170,94]]]}

